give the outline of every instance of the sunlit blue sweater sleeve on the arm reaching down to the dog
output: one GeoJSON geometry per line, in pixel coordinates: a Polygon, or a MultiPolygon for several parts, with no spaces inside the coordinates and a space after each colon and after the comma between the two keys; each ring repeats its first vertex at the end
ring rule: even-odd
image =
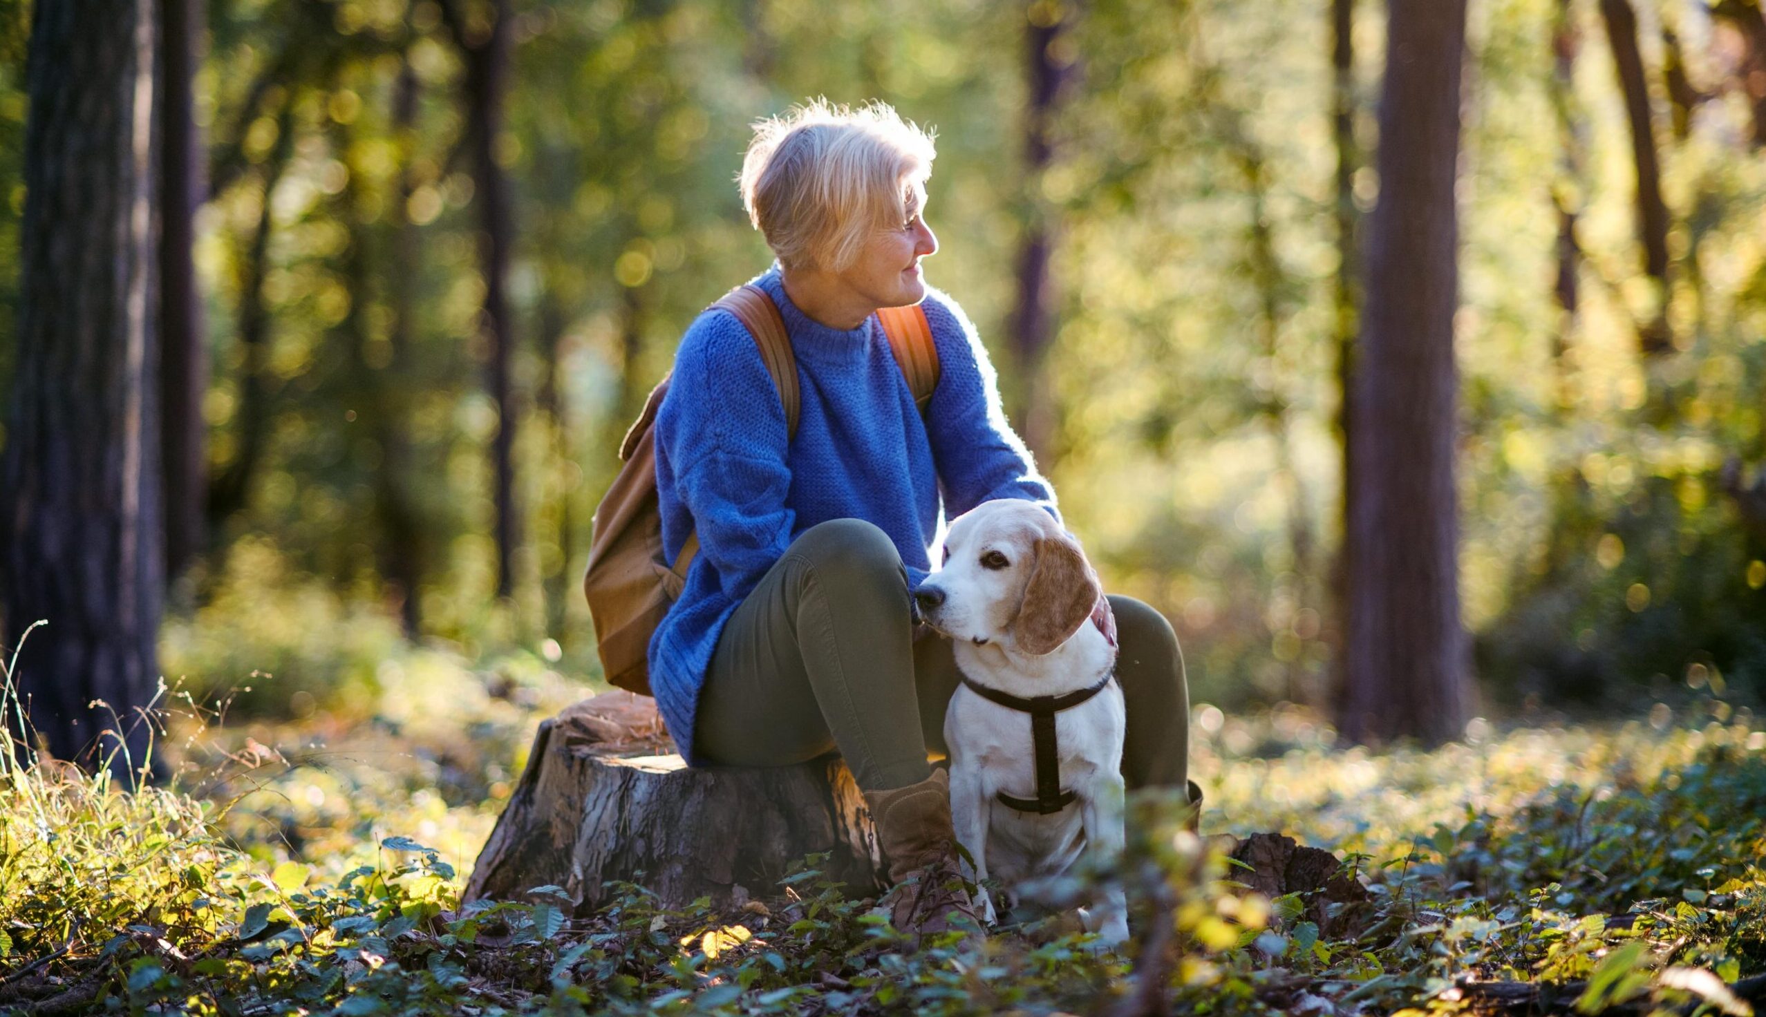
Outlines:
{"type": "Polygon", "coordinates": [[[927,408],[927,438],[938,463],[945,516],[994,498],[1037,501],[1060,521],[1054,489],[1037,473],[1024,441],[1000,406],[1000,383],[975,325],[950,297],[929,290],[925,320],[938,346],[938,388],[927,408]]]}

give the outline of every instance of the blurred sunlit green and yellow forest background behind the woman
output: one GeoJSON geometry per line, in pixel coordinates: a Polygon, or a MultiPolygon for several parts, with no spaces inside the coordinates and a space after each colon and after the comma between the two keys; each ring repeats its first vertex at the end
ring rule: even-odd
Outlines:
{"type": "MultiPolygon", "coordinates": [[[[1330,715],[1383,5],[162,7],[168,682],[306,719],[593,680],[618,440],[770,261],[749,124],[828,95],[936,127],[927,277],[1106,583],[1174,622],[1192,697],[1330,715]]],[[[30,26],[0,0],[9,427],[30,26]]],[[[1459,108],[1476,710],[1766,694],[1766,18],[1480,0],[1459,108]]]]}

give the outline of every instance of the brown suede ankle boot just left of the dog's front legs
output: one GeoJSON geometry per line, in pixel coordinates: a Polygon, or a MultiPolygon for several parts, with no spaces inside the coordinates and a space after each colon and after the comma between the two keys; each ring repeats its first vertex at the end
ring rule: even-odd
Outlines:
{"type": "Polygon", "coordinates": [[[878,846],[894,883],[885,900],[890,900],[895,929],[915,936],[948,929],[984,936],[962,883],[955,832],[950,828],[950,773],[932,770],[918,784],[865,791],[865,805],[871,807],[878,846]]]}

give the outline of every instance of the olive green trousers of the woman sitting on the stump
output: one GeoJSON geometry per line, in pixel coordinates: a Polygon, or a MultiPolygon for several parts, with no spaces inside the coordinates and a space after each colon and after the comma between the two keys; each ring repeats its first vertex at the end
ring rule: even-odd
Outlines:
{"type": "MultiPolygon", "coordinates": [[[[1146,604],[1109,602],[1128,712],[1123,777],[1130,789],[1183,787],[1190,701],[1178,637],[1146,604]]],[[[888,535],[834,519],[804,531],[729,618],[694,740],[724,766],[788,766],[839,750],[858,787],[906,787],[945,754],[957,682],[950,641],[924,629],[915,637],[908,572],[888,535]]]]}

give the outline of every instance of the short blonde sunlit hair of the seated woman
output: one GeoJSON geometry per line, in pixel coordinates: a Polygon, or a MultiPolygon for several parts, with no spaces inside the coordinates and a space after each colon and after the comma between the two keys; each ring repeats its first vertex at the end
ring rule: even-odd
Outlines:
{"type": "Polygon", "coordinates": [[[841,272],[876,230],[918,214],[934,155],[932,134],[887,102],[814,99],[754,124],[736,182],[781,265],[841,272]]]}

